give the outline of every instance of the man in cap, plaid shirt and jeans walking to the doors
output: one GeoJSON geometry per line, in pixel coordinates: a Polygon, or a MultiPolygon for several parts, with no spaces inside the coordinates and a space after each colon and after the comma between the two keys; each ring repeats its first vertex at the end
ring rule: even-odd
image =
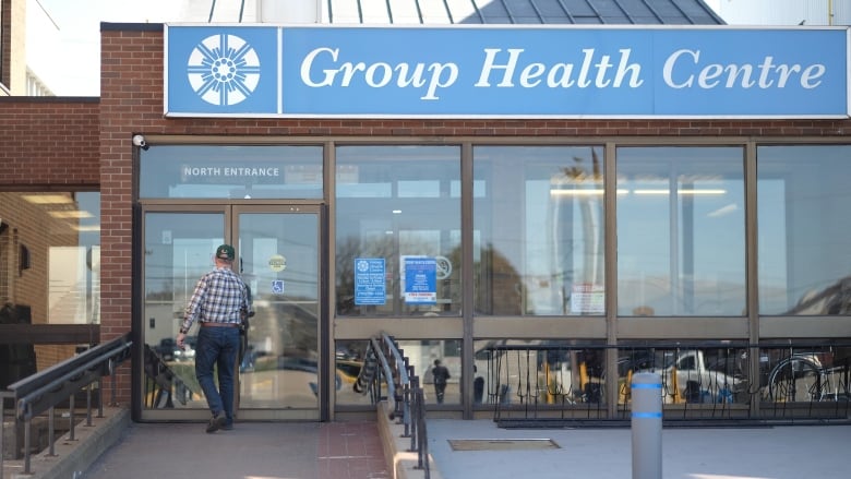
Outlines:
{"type": "Polygon", "coordinates": [[[242,318],[251,315],[245,284],[233,271],[236,253],[230,244],[216,249],[216,268],[201,277],[189,300],[178,347],[185,346],[187,333],[195,321],[201,325],[195,350],[195,376],[207,398],[213,417],[208,433],[233,429],[233,370],[239,352],[242,318]],[[217,369],[218,390],[213,379],[217,369]]]}

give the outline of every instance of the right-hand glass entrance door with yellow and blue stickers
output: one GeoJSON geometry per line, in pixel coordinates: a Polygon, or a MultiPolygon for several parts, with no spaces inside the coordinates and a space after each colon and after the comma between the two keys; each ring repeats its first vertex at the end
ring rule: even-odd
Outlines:
{"type": "Polygon", "coordinates": [[[239,367],[239,415],[319,419],[319,208],[236,206],[233,217],[254,309],[239,367]]]}

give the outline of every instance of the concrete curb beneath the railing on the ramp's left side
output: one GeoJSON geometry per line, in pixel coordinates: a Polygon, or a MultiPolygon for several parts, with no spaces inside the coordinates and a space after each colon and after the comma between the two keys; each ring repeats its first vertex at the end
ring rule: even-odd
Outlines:
{"type": "MultiPolygon", "coordinates": [[[[85,418],[74,428],[74,441],[70,433],[57,440],[55,455],[44,451],[29,460],[32,474],[12,474],[12,479],[69,479],[82,476],[83,471],[116,444],[130,427],[130,411],[124,408],[104,408],[104,417],[92,418],[92,426],[85,418]]],[[[20,460],[23,465],[23,460],[20,460]]]]}

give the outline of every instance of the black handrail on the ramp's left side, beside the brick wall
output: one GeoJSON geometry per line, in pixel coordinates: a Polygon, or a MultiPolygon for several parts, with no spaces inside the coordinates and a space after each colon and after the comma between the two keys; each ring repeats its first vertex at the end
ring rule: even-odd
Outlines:
{"type": "MultiPolygon", "coordinates": [[[[15,443],[12,445],[14,457],[17,457],[20,447],[17,440],[17,424],[24,424],[24,474],[31,471],[31,430],[32,420],[43,412],[48,412],[49,428],[49,454],[55,454],[55,414],[56,406],[68,402],[70,440],[74,441],[74,396],[84,392],[86,396],[86,424],[92,426],[92,384],[97,383],[97,417],[104,417],[103,379],[115,373],[116,367],[130,358],[132,340],[130,334],[117,337],[108,343],[103,343],[91,349],[59,362],[44,371],[29,375],[21,381],[10,384],[1,393],[3,399],[11,398],[15,418],[15,443]]],[[[0,400],[0,417],[4,416],[3,403],[0,400]]],[[[112,381],[111,400],[116,402],[116,382],[112,381]]],[[[0,426],[0,452],[3,450],[3,427],[0,426]]],[[[0,455],[0,479],[2,479],[2,455],[0,455]]]]}

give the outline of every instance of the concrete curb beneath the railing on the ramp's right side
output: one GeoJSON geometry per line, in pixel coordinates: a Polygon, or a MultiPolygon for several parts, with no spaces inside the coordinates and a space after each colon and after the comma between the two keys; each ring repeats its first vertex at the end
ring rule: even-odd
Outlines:
{"type": "MultiPolygon", "coordinates": [[[[418,479],[425,477],[425,470],[417,467],[417,453],[410,451],[410,438],[404,438],[405,424],[391,418],[393,409],[386,400],[377,405],[377,423],[381,442],[384,446],[384,457],[387,458],[387,469],[393,471],[394,479],[418,479]]],[[[442,479],[434,459],[429,455],[429,478],[442,479]]]]}

